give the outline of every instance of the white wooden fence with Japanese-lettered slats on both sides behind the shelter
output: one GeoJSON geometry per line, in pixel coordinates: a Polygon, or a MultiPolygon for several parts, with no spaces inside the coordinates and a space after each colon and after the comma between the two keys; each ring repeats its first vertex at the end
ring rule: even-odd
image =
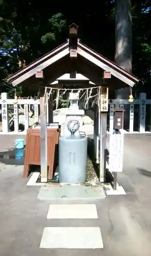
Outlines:
{"type": "MultiPolygon", "coordinates": [[[[29,127],[29,110],[31,109],[31,105],[33,105],[34,112],[34,121],[38,121],[39,119],[39,108],[40,104],[39,99],[17,99],[17,103],[14,103],[14,99],[8,99],[7,93],[1,94],[0,99],[0,109],[2,104],[2,132],[0,134],[26,134],[26,130],[29,127]],[[9,132],[9,117],[8,117],[8,105],[13,104],[14,109],[14,132],[9,132]],[[25,117],[25,131],[19,132],[19,123],[18,123],[18,106],[24,105],[24,117],[25,117]]],[[[141,93],[139,99],[134,99],[133,103],[128,102],[127,99],[113,99],[110,103],[110,113],[109,113],[109,123],[110,123],[110,133],[113,132],[113,119],[114,119],[114,105],[120,104],[120,108],[124,108],[125,104],[130,105],[130,127],[128,133],[134,133],[134,120],[135,120],[135,109],[134,105],[138,104],[139,109],[139,122],[138,122],[138,132],[145,133],[145,119],[146,119],[146,104],[150,104],[151,100],[146,99],[146,94],[141,93]]],[[[151,120],[151,108],[150,108],[150,120],[151,120]]],[[[1,114],[1,112],[0,112],[1,114]]],[[[151,125],[150,125],[151,126],[151,125]]],[[[151,130],[150,130],[151,132],[151,130]]]]}

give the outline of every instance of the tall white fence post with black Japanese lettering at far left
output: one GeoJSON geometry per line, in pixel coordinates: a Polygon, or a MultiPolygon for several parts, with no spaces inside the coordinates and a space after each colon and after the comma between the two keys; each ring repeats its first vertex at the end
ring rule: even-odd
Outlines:
{"type": "Polygon", "coordinates": [[[7,93],[2,93],[2,129],[3,133],[9,132],[7,93]]]}

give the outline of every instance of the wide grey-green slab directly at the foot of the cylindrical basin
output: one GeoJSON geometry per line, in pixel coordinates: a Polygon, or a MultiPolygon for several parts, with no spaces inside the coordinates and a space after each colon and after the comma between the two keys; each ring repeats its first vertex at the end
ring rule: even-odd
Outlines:
{"type": "Polygon", "coordinates": [[[93,186],[49,186],[40,187],[37,198],[39,200],[82,200],[82,199],[103,199],[105,198],[102,187],[93,186]]]}

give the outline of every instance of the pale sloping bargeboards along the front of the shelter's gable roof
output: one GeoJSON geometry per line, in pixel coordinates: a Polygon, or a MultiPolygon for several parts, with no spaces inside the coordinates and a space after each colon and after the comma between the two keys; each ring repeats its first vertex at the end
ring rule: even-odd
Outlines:
{"type": "MultiPolygon", "coordinates": [[[[79,39],[77,42],[77,54],[82,56],[88,62],[92,62],[94,66],[97,66],[104,71],[110,71],[114,77],[126,83],[128,86],[133,87],[139,81],[137,77],[118,67],[111,60],[82,44],[79,39]]],[[[53,51],[38,58],[30,65],[11,75],[7,81],[12,83],[13,86],[17,86],[21,82],[24,82],[35,75],[37,71],[45,70],[48,66],[51,66],[54,62],[59,61],[67,55],[69,55],[69,39],[53,51]]]]}

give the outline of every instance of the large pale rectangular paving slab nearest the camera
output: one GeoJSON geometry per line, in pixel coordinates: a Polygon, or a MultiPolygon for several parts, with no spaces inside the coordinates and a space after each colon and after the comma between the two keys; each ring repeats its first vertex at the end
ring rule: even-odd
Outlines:
{"type": "Polygon", "coordinates": [[[40,248],[103,248],[99,227],[45,227],[40,248]]]}

